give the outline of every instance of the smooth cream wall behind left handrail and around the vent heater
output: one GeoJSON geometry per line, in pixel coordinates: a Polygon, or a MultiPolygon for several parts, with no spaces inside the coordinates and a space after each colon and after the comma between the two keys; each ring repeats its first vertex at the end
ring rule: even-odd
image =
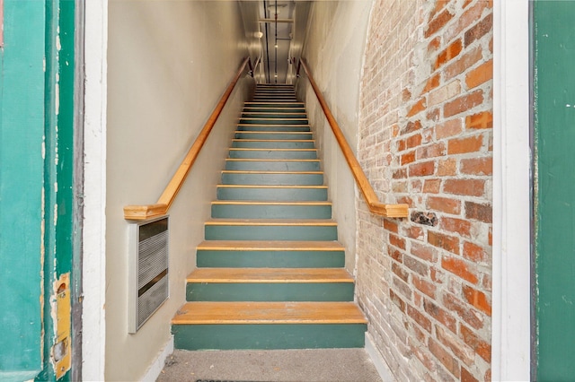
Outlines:
{"type": "MultiPolygon", "coordinates": [[[[235,1],[111,0],[106,187],[106,380],[137,380],[170,341],[203,240],[243,77],[170,210],[171,297],[128,334],[127,204],[154,204],[247,55],[235,1]]],[[[146,378],[149,376],[146,374],[146,378]]]]}

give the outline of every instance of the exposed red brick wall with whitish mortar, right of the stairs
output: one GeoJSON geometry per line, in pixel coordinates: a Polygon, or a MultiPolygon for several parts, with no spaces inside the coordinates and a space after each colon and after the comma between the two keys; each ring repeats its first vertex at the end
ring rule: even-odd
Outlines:
{"type": "Polygon", "coordinates": [[[399,380],[491,379],[492,3],[377,0],[361,83],[358,301],[399,380]]]}

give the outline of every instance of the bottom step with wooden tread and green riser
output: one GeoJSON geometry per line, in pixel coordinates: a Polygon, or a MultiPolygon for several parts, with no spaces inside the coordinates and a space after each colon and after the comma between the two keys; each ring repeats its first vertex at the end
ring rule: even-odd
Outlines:
{"type": "Polygon", "coordinates": [[[354,348],[367,330],[353,302],[189,302],[172,324],[184,350],[354,348]]]}

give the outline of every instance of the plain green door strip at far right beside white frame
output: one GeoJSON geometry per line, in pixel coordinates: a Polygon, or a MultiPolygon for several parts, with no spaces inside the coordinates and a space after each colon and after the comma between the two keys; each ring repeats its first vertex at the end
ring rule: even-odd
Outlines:
{"type": "MultiPolygon", "coordinates": [[[[575,376],[575,2],[535,1],[535,375],[575,376]]],[[[525,254],[526,255],[526,254],[525,254]]]]}

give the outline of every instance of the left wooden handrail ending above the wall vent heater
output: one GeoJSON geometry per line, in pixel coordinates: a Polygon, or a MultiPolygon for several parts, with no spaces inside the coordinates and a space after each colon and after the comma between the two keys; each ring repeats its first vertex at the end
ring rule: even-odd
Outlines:
{"type": "Polygon", "coordinates": [[[243,63],[240,65],[240,68],[235,74],[234,79],[232,82],[230,82],[226,92],[224,95],[222,95],[222,98],[217,103],[216,109],[212,111],[212,114],[209,116],[206,125],[204,125],[204,127],[199,132],[196,141],[191,145],[190,151],[181,162],[181,165],[176,170],[175,174],[173,174],[172,180],[170,180],[170,183],[168,183],[168,185],[165,187],[164,193],[160,196],[158,201],[155,204],[126,205],[124,207],[124,219],[143,221],[146,219],[163,216],[168,213],[173,200],[176,198],[176,195],[178,195],[178,191],[180,191],[181,185],[183,185],[183,182],[186,180],[186,177],[190,172],[191,166],[198,158],[199,152],[204,146],[204,143],[206,143],[208,140],[208,135],[212,131],[212,128],[214,125],[216,125],[217,117],[219,117],[219,115],[222,113],[222,110],[226,106],[227,100],[230,98],[232,91],[234,91],[235,84],[242,76],[243,71],[245,70],[245,66],[248,64],[248,60],[249,57],[246,57],[243,60],[243,63]]]}

